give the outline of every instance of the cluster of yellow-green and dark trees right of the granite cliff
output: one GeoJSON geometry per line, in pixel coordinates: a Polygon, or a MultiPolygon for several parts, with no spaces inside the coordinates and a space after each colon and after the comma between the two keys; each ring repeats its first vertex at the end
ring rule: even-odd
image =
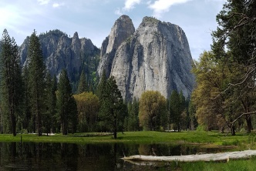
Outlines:
{"type": "Polygon", "coordinates": [[[256,127],[256,1],[227,1],[217,15],[210,52],[200,55],[193,72],[197,121],[206,130],[232,135],[256,127]]]}

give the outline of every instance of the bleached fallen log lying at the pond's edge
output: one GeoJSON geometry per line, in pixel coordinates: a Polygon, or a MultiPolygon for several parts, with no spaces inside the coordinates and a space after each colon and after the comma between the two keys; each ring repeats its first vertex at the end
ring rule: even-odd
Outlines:
{"type": "Polygon", "coordinates": [[[229,159],[250,159],[251,156],[256,156],[256,150],[245,150],[227,153],[209,153],[209,154],[195,154],[186,156],[128,156],[123,157],[126,161],[140,161],[140,162],[199,162],[199,161],[229,161],[229,159]]]}

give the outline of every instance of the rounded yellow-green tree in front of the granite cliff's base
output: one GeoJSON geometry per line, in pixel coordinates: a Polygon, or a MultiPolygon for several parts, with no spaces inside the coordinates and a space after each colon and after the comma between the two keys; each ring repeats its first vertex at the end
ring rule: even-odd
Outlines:
{"type": "Polygon", "coordinates": [[[146,130],[160,130],[167,126],[166,99],[157,91],[143,92],[140,97],[140,126],[146,130]]]}

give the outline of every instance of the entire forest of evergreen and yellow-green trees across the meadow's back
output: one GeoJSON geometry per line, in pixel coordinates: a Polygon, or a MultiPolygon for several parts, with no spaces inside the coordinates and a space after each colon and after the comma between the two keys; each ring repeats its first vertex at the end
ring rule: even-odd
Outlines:
{"type": "MultiPolygon", "coordinates": [[[[256,126],[256,2],[227,1],[217,15],[211,51],[194,61],[196,85],[191,96],[173,90],[143,92],[126,102],[113,76],[95,79],[89,89],[85,72],[72,92],[63,69],[59,80],[43,62],[39,36],[32,32],[24,67],[18,45],[2,34],[1,132],[59,133],[219,130],[250,133],[256,126]],[[99,81],[98,81],[99,80],[99,81]]],[[[90,83],[91,84],[91,83],[90,83]]]]}

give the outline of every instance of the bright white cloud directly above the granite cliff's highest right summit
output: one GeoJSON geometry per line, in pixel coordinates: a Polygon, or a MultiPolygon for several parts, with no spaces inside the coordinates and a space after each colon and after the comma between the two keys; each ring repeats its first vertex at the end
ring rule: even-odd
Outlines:
{"type": "Polygon", "coordinates": [[[172,5],[183,4],[191,0],[157,0],[153,4],[149,4],[148,8],[153,9],[153,15],[160,18],[164,12],[169,12],[172,5]]]}

